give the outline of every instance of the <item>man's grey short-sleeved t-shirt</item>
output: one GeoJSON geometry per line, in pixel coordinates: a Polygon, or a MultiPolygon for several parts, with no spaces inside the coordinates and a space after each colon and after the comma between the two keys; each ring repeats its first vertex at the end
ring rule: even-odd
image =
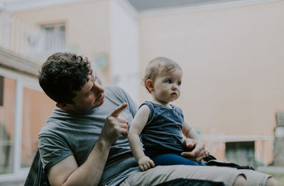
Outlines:
{"type": "MultiPolygon", "coordinates": [[[[129,94],[116,86],[104,87],[104,94],[104,104],[90,111],[53,110],[38,134],[38,148],[45,173],[69,155],[74,155],[77,164],[82,165],[99,138],[107,116],[124,102],[128,106],[119,118],[131,124],[138,106],[129,94]]],[[[128,138],[121,135],[111,146],[99,185],[118,185],[137,172],[140,169],[131,153],[128,138]]]]}

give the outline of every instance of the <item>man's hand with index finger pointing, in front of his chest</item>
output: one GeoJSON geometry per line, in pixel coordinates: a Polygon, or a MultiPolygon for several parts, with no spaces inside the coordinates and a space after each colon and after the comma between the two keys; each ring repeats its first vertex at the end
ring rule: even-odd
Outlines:
{"type": "Polygon", "coordinates": [[[104,123],[104,128],[102,128],[100,138],[103,138],[105,141],[107,141],[110,146],[116,142],[120,134],[124,136],[128,135],[129,121],[119,119],[119,114],[126,107],[126,103],[118,106],[109,116],[107,116],[107,119],[104,123]]]}

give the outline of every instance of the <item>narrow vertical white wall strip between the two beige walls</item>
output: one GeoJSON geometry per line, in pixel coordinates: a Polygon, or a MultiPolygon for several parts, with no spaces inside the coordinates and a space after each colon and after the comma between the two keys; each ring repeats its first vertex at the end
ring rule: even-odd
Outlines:
{"type": "Polygon", "coordinates": [[[124,0],[112,0],[110,11],[110,75],[138,102],[138,20],[133,7],[124,0]]]}

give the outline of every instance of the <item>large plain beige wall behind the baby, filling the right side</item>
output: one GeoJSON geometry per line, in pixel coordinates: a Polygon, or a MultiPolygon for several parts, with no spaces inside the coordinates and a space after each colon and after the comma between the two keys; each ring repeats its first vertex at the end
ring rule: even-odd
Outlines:
{"type": "Polygon", "coordinates": [[[273,135],[284,111],[283,9],[275,1],[143,13],[141,71],[157,56],[182,66],[175,104],[203,134],[273,135]]]}

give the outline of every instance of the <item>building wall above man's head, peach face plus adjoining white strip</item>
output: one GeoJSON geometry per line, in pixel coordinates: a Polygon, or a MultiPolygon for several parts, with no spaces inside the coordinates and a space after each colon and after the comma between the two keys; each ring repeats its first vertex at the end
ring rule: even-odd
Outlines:
{"type": "Polygon", "coordinates": [[[82,1],[18,11],[12,16],[31,25],[65,23],[66,44],[92,61],[103,83],[118,84],[139,98],[138,15],[127,1],[82,1]],[[100,57],[106,60],[103,68],[96,63],[100,57]]]}

